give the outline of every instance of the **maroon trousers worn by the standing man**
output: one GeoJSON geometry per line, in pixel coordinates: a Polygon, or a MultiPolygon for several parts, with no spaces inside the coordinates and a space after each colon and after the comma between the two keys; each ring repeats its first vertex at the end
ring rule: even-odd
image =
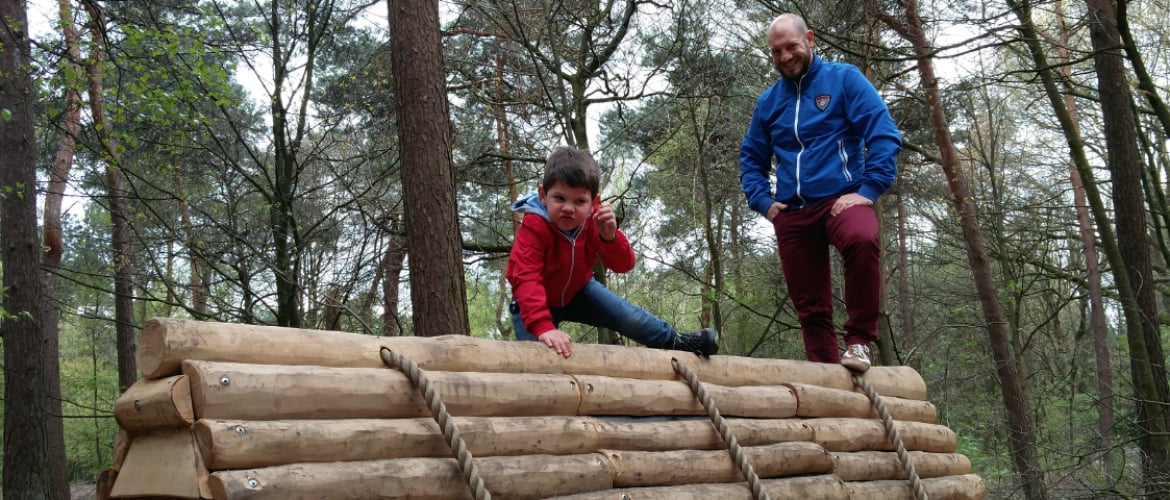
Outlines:
{"type": "Polygon", "coordinates": [[[881,242],[872,206],[854,206],[830,215],[835,198],[811,207],[782,211],[772,219],[780,267],[796,306],[808,361],[840,363],[833,327],[832,245],[845,262],[845,343],[878,338],[881,294],[881,242]]]}

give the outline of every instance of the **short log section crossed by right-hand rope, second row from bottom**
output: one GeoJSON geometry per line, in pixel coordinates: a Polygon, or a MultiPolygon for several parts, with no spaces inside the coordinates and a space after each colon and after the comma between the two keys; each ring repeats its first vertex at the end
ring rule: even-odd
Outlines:
{"type": "MultiPolygon", "coordinates": [[[[958,453],[928,453],[911,451],[907,453],[918,478],[942,478],[971,473],[971,460],[958,453]]],[[[878,481],[885,479],[907,479],[902,460],[895,452],[859,451],[833,453],[837,467],[833,473],[845,481],[878,481]]]]}

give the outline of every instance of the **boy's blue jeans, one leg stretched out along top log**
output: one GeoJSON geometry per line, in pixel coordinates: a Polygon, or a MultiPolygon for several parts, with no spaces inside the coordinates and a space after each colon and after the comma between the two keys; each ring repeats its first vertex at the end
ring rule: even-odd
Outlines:
{"type": "MultiPolygon", "coordinates": [[[[536,337],[524,328],[515,300],[509,310],[516,340],[535,341],[536,337]]],[[[649,348],[674,347],[674,337],[679,334],[670,323],[626,302],[597,280],[589,280],[565,307],[551,307],[549,311],[552,313],[552,324],[558,328],[563,321],[608,328],[649,348]]]]}

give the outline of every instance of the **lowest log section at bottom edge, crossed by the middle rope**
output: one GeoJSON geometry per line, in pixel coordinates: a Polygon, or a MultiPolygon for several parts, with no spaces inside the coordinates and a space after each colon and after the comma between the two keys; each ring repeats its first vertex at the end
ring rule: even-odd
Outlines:
{"type": "MultiPolygon", "coordinates": [[[[764,479],[762,484],[772,500],[849,500],[851,498],[868,500],[867,496],[851,495],[846,482],[831,474],[764,479]]],[[[753,498],[746,482],[621,488],[552,496],[556,500],[753,500],[753,498]]],[[[911,496],[904,496],[902,500],[907,498],[911,496]]]]}

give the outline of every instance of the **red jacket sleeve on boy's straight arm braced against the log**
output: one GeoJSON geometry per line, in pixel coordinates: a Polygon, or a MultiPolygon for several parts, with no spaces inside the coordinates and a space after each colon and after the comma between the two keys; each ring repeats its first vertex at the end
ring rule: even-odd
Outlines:
{"type": "Polygon", "coordinates": [[[539,215],[524,215],[508,256],[507,276],[519,306],[521,321],[536,337],[556,329],[544,289],[544,255],[552,245],[552,234],[546,230],[539,215]]]}

